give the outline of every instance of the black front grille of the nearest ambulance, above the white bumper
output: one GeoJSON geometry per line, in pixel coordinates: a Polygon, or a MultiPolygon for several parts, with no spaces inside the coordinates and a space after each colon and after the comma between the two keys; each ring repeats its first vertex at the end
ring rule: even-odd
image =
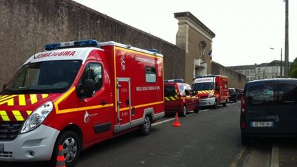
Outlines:
{"type": "Polygon", "coordinates": [[[0,122],[0,140],[14,140],[23,122],[0,122]]]}

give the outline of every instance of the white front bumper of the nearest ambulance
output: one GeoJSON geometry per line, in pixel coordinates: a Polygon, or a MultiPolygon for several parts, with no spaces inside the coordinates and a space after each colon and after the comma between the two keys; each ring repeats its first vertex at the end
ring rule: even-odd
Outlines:
{"type": "Polygon", "coordinates": [[[50,160],[59,133],[60,131],[41,124],[33,131],[19,134],[12,141],[0,141],[0,146],[4,146],[4,151],[0,152],[0,161],[32,162],[50,160]]]}

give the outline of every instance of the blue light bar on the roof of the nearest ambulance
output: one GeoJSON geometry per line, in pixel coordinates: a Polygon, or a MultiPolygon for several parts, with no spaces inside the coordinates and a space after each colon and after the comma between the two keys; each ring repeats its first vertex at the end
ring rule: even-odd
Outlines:
{"type": "Polygon", "coordinates": [[[82,40],[82,41],[70,41],[65,43],[54,43],[45,45],[45,50],[53,50],[53,49],[62,49],[68,47],[96,47],[98,45],[98,41],[94,39],[82,40]]]}

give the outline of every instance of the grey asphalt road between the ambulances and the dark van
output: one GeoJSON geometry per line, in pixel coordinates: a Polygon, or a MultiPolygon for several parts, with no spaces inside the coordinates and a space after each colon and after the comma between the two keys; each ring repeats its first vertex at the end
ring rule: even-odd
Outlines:
{"type": "MultiPolygon", "coordinates": [[[[92,146],[76,166],[297,166],[296,138],[255,139],[242,146],[239,108],[237,102],[189,113],[179,118],[179,127],[166,117],[148,136],[131,132],[92,146]]],[[[1,167],[43,164],[0,162],[1,167]]]]}

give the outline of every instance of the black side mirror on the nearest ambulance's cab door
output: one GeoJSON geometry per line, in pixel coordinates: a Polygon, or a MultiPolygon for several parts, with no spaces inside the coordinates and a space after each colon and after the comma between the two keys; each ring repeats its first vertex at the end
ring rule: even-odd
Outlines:
{"type": "Polygon", "coordinates": [[[86,79],[83,81],[83,85],[78,85],[78,96],[80,98],[91,98],[95,91],[94,80],[86,79]]]}

